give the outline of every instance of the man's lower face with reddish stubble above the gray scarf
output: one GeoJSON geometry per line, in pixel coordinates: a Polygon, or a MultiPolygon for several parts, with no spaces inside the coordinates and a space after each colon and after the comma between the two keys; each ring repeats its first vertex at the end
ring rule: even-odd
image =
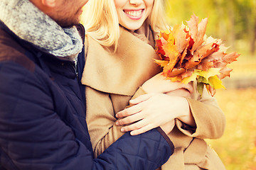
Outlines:
{"type": "Polygon", "coordinates": [[[62,27],[78,24],[88,0],[30,0],[62,27]]]}

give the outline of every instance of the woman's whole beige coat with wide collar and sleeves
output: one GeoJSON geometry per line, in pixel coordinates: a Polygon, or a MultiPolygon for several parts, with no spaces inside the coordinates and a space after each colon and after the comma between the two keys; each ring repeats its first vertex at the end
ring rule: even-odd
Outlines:
{"type": "MultiPolygon", "coordinates": [[[[115,113],[128,106],[132,96],[144,94],[139,87],[161,72],[153,61],[158,58],[153,47],[127,30],[120,28],[120,31],[115,53],[89,36],[85,42],[87,54],[82,84],[86,85],[86,120],[95,156],[123,135],[121,127],[115,125],[115,113]]],[[[225,116],[207,91],[201,99],[196,92],[191,98],[188,102],[197,128],[192,132],[184,130],[183,123],[176,120],[169,134],[175,152],[161,169],[225,169],[218,155],[202,140],[223,135],[225,116]]]]}

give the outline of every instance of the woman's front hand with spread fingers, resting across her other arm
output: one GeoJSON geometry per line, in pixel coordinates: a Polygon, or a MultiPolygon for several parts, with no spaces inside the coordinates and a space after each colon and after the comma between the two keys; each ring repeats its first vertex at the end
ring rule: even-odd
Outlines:
{"type": "MultiPolygon", "coordinates": [[[[153,128],[185,118],[193,122],[188,101],[181,96],[144,94],[130,101],[134,106],[117,113],[117,125],[124,125],[122,132],[139,135],[153,128]],[[191,116],[191,117],[189,117],[191,116]]],[[[187,121],[186,120],[186,121],[187,121]]]]}

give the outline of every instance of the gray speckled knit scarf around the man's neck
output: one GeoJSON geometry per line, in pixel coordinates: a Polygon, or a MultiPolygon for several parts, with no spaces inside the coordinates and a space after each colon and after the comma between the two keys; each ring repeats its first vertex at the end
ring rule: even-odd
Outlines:
{"type": "Polygon", "coordinates": [[[0,20],[19,38],[52,55],[75,60],[82,50],[75,27],[61,28],[29,0],[1,0],[0,20]]]}

